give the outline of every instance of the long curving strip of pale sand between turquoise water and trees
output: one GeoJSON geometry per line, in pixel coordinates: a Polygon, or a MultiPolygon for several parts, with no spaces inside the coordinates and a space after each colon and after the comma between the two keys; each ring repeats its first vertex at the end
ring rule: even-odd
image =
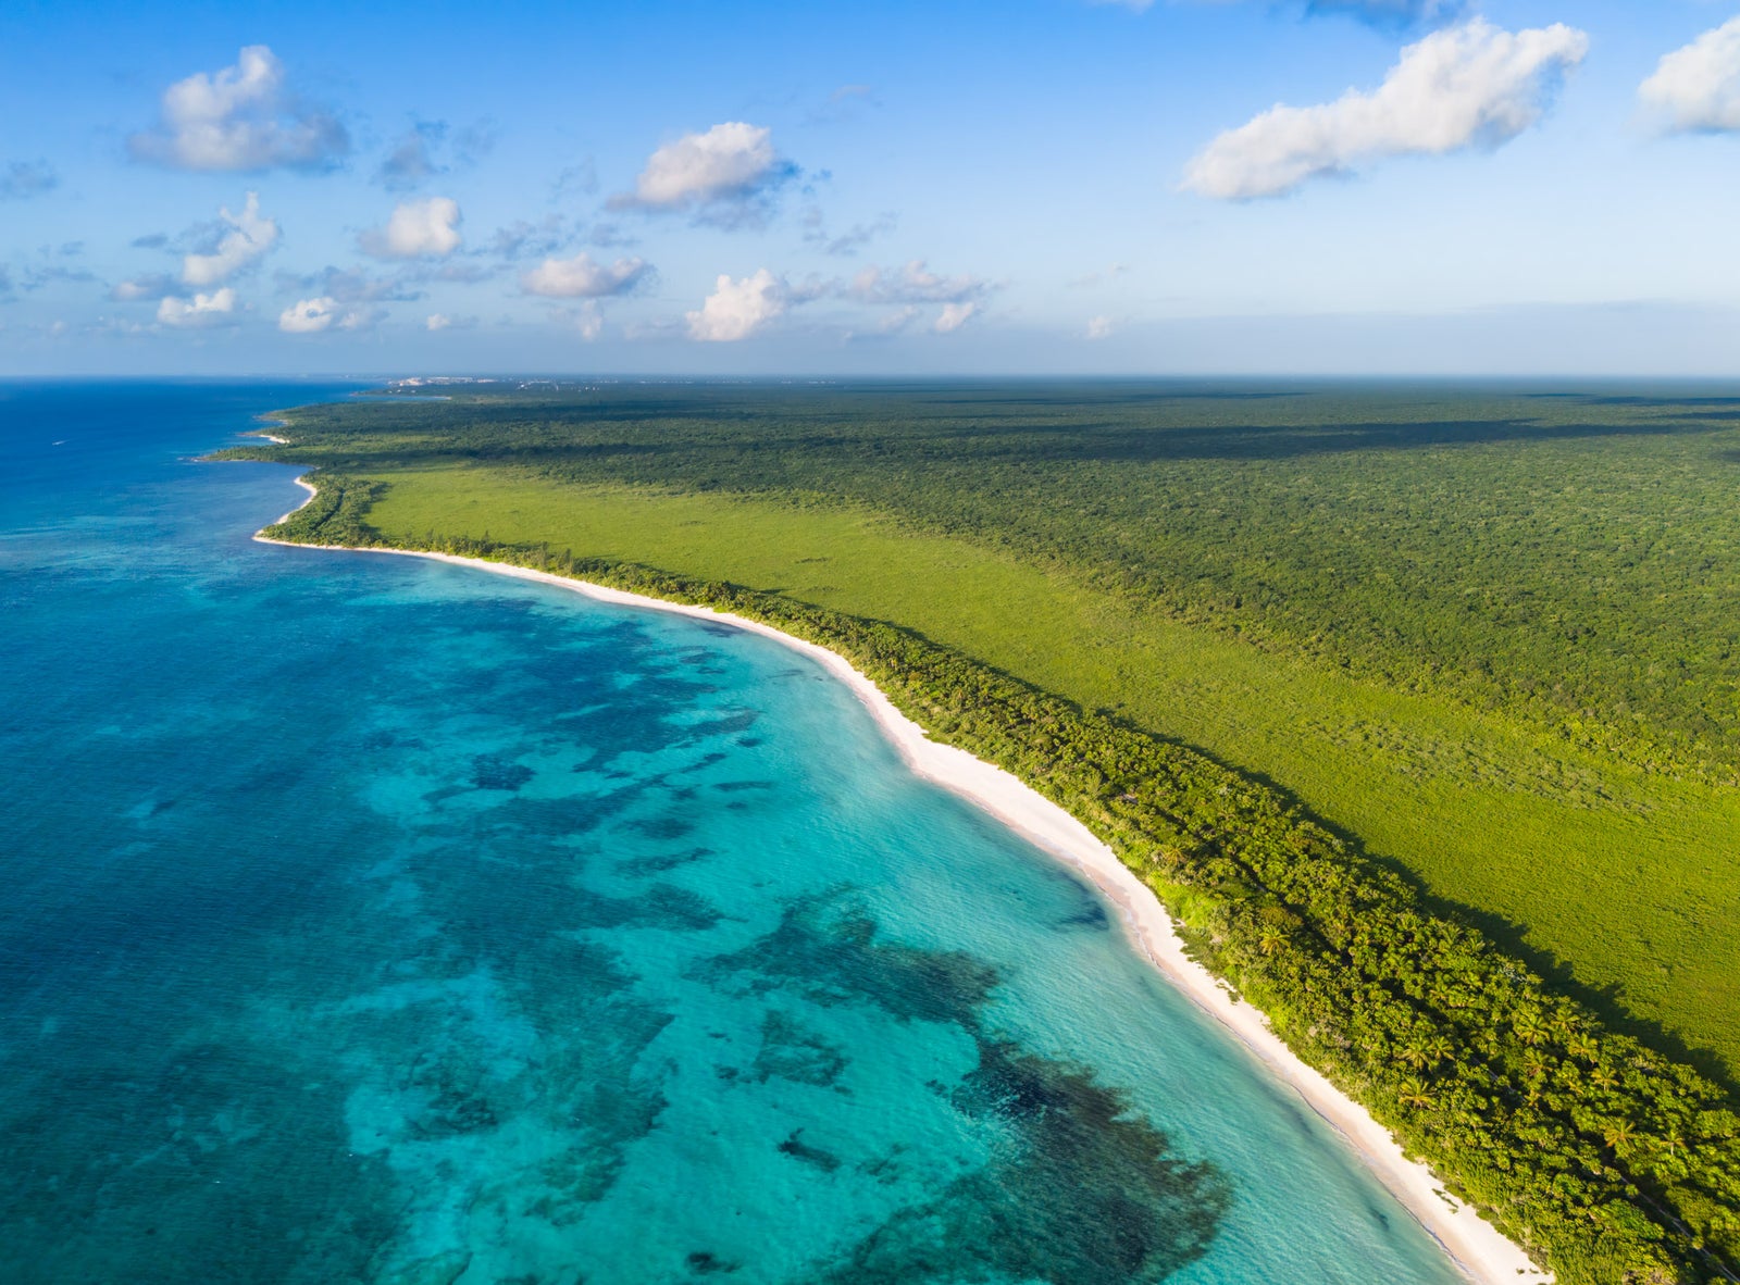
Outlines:
{"type": "MultiPolygon", "coordinates": [[[[306,478],[298,478],[298,485],[308,490],[310,499],[313,497],[315,487],[306,478]]],[[[284,522],[289,516],[285,513],[278,520],[284,522]]],[[[914,772],[974,803],[1093,882],[1119,908],[1126,930],[1154,967],[1199,1009],[1218,1021],[1270,1075],[1295,1090],[1312,1111],[1340,1132],[1371,1174],[1420,1221],[1427,1233],[1439,1242],[1451,1261],[1470,1280],[1479,1285],[1498,1285],[1500,1282],[1516,1285],[1516,1282],[1538,1283],[1552,1280],[1549,1273],[1540,1271],[1517,1245],[1502,1236],[1472,1207],[1442,1195],[1442,1184],[1432,1175],[1427,1165],[1408,1160],[1401,1146],[1390,1137],[1390,1132],[1373,1120],[1362,1106],[1329,1083],[1328,1078],[1302,1062],[1281,1036],[1268,1028],[1268,1019],[1260,1010],[1244,1000],[1232,998],[1215,974],[1185,955],[1173,920],[1154,892],[1117,859],[1112,849],[1094,838],[1081,821],[1000,767],[974,758],[966,749],[931,741],[922,727],[900,713],[894,702],[882,694],[882,689],[858,673],[842,656],[743,616],[717,612],[710,607],[665,602],[663,598],[647,598],[550,572],[485,562],[484,558],[463,558],[452,553],[416,549],[351,549],[343,544],[294,544],[258,534],[254,539],[266,544],[285,544],[287,548],[393,553],[409,558],[449,562],[459,567],[475,567],[498,576],[513,576],[524,581],[572,589],[597,602],[619,607],[642,607],[703,621],[724,621],[802,652],[851,689],[870,709],[877,725],[894,742],[900,756],[914,772]]]]}

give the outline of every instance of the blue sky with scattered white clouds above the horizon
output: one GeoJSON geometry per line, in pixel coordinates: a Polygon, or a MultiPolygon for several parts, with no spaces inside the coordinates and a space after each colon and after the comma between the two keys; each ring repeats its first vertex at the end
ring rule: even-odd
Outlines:
{"type": "Polygon", "coordinates": [[[0,16],[0,376],[1740,376],[1740,0],[0,16]]]}

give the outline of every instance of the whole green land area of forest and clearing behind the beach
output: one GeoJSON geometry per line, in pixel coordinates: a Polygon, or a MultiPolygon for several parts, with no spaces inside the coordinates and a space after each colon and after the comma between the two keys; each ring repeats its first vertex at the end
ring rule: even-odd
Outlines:
{"type": "Polygon", "coordinates": [[[1740,1264],[1740,396],[465,388],[268,534],[766,619],[1068,807],[1566,1282],[1740,1264]]]}

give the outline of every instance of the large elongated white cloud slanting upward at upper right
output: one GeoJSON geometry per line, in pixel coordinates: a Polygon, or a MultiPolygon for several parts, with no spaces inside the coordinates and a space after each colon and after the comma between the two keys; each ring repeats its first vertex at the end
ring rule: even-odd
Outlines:
{"type": "Polygon", "coordinates": [[[1509,143],[1540,120],[1556,77],[1589,52],[1563,23],[1503,31],[1474,19],[1402,49],[1375,92],[1312,108],[1275,106],[1228,130],[1185,170],[1185,188],[1223,200],[1279,196],[1307,179],[1399,155],[1509,143]]]}

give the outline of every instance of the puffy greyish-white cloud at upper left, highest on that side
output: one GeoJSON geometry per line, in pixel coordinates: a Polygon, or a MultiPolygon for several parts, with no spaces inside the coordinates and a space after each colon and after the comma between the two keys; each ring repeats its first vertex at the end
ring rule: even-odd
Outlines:
{"type": "Polygon", "coordinates": [[[345,127],[298,103],[284,64],[247,45],[235,66],[197,71],[164,90],[160,125],[129,139],[132,155],[191,170],[320,169],[350,150],[345,127]]]}

